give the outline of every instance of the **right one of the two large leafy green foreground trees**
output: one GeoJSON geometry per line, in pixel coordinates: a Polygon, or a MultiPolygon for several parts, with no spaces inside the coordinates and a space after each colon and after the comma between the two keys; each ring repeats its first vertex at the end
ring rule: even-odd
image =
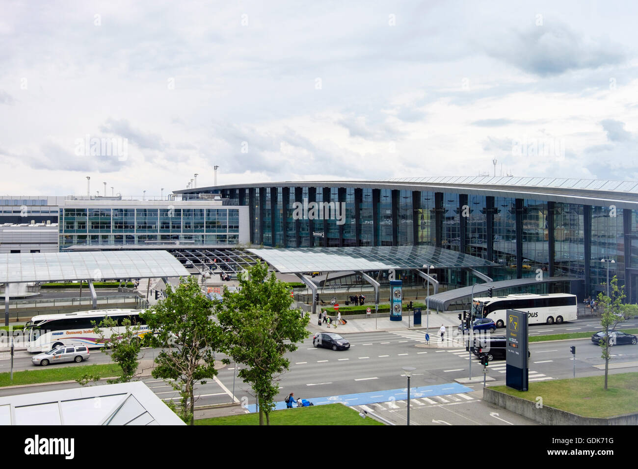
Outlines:
{"type": "MultiPolygon", "coordinates": [[[[274,399],[279,392],[278,376],[290,367],[284,357],[297,350],[297,343],[308,337],[308,316],[291,309],[292,298],[283,282],[262,262],[239,276],[237,292],[224,291],[216,306],[219,324],[227,334],[226,354],[236,363],[246,364],[238,376],[250,383],[259,405],[259,424],[270,424],[274,399]]],[[[226,364],[230,363],[225,359],[226,364]]]]}

